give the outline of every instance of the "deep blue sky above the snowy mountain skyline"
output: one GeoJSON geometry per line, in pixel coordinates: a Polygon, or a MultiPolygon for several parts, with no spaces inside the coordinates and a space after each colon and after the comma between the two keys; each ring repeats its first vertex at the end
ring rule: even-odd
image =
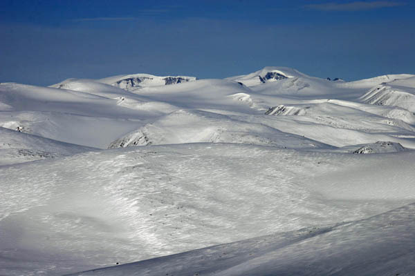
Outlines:
{"type": "Polygon", "coordinates": [[[415,74],[415,3],[1,0],[0,82],[148,73],[225,78],[415,74]]]}

